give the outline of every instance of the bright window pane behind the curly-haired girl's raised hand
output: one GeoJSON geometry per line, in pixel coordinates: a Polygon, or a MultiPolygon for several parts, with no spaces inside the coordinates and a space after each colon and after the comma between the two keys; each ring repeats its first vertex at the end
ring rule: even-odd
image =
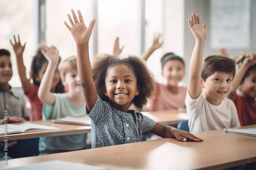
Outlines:
{"type": "Polygon", "coordinates": [[[88,27],[90,21],[93,19],[91,7],[93,7],[93,0],[79,0],[79,1],[52,1],[46,0],[46,32],[45,39],[48,46],[54,45],[59,50],[61,60],[76,55],[76,42],[71,33],[63,23],[66,21],[69,26],[67,14],[71,15],[70,9],[74,9],[77,14],[79,9],[83,15],[83,20],[88,27]]]}

